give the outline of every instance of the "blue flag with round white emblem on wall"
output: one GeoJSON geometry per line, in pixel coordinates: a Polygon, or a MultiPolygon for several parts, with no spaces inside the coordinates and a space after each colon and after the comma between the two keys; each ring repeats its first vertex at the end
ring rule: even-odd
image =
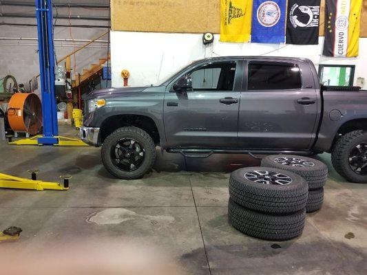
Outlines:
{"type": "Polygon", "coordinates": [[[286,0],[253,0],[251,42],[284,43],[286,0]]]}

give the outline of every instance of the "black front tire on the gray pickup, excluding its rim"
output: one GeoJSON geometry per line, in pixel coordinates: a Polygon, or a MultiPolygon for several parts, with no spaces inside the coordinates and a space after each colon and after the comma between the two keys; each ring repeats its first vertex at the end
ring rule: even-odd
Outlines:
{"type": "Polygon", "coordinates": [[[101,150],[102,162],[109,173],[120,179],[139,179],[151,170],[151,167],[156,161],[156,146],[151,136],[134,126],[119,128],[106,137],[102,145],[101,150]],[[114,142],[123,138],[133,138],[145,149],[145,159],[139,168],[133,171],[125,171],[118,169],[112,163],[111,159],[111,148],[114,146],[114,142]]]}

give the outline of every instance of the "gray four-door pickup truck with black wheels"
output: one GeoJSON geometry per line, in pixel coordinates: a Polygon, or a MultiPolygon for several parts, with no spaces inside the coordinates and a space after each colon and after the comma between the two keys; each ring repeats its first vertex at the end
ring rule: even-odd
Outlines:
{"type": "Polygon", "coordinates": [[[306,58],[205,58],[156,85],[85,100],[82,138],[121,179],[145,175],[160,146],[188,157],[328,152],[340,175],[367,182],[367,91],[320,87],[306,58]]]}

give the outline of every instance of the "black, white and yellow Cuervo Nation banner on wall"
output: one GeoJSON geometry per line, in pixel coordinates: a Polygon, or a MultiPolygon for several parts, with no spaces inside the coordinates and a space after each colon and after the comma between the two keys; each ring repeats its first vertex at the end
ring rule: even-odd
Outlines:
{"type": "Polygon", "coordinates": [[[324,56],[358,56],[362,0],[326,0],[324,56]]]}

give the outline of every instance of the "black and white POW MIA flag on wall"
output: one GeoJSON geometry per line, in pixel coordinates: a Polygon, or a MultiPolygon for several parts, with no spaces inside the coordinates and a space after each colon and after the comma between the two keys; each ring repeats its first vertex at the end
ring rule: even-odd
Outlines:
{"type": "Polygon", "coordinates": [[[320,0],[289,0],[286,21],[286,43],[315,45],[319,43],[320,0]]]}

